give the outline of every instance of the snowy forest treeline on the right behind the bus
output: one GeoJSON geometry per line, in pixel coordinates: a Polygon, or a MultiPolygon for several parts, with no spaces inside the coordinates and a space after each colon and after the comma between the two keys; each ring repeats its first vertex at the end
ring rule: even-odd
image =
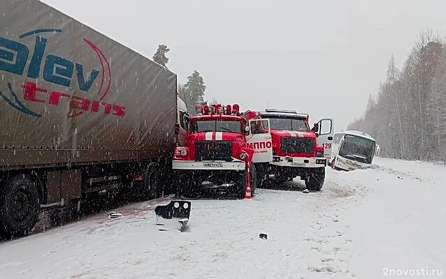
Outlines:
{"type": "Polygon", "coordinates": [[[401,70],[392,55],[378,95],[348,130],[372,135],[380,156],[446,162],[446,43],[420,34],[401,70]]]}

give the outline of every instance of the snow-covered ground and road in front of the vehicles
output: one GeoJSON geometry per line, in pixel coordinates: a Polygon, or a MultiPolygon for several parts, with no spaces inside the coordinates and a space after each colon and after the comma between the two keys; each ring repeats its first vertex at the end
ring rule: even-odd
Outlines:
{"type": "Polygon", "coordinates": [[[320,193],[298,181],[252,200],[192,200],[183,233],[129,208],[6,241],[0,278],[446,278],[446,167],[374,163],[327,168],[320,193]]]}

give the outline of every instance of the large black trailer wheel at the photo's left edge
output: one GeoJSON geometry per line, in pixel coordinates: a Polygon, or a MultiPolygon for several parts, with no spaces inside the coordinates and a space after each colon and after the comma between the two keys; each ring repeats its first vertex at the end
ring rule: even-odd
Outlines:
{"type": "Polygon", "coordinates": [[[36,225],[40,211],[38,188],[29,176],[17,175],[0,188],[0,234],[25,236],[36,225]]]}

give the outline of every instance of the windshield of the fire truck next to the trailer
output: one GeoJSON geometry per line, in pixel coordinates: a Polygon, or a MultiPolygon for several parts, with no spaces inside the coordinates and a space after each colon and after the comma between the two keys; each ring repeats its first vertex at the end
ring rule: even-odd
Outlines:
{"type": "Polygon", "coordinates": [[[242,123],[234,120],[194,120],[190,122],[190,133],[230,132],[243,133],[242,123]]]}

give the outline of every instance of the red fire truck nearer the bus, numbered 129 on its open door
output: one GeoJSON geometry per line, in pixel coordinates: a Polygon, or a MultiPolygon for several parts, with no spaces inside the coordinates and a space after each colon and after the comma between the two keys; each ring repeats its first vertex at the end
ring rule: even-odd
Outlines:
{"type": "MultiPolygon", "coordinates": [[[[269,119],[270,123],[272,160],[263,163],[254,158],[252,161],[256,166],[257,186],[267,188],[270,183],[284,183],[300,176],[309,190],[321,190],[332,148],[333,119],[321,119],[310,128],[308,114],[292,110],[248,110],[242,116],[249,123],[259,119],[269,119]]],[[[254,130],[265,130],[266,127],[251,124],[251,129],[255,133],[254,130]]],[[[257,152],[256,146],[252,148],[257,152]]]]}

